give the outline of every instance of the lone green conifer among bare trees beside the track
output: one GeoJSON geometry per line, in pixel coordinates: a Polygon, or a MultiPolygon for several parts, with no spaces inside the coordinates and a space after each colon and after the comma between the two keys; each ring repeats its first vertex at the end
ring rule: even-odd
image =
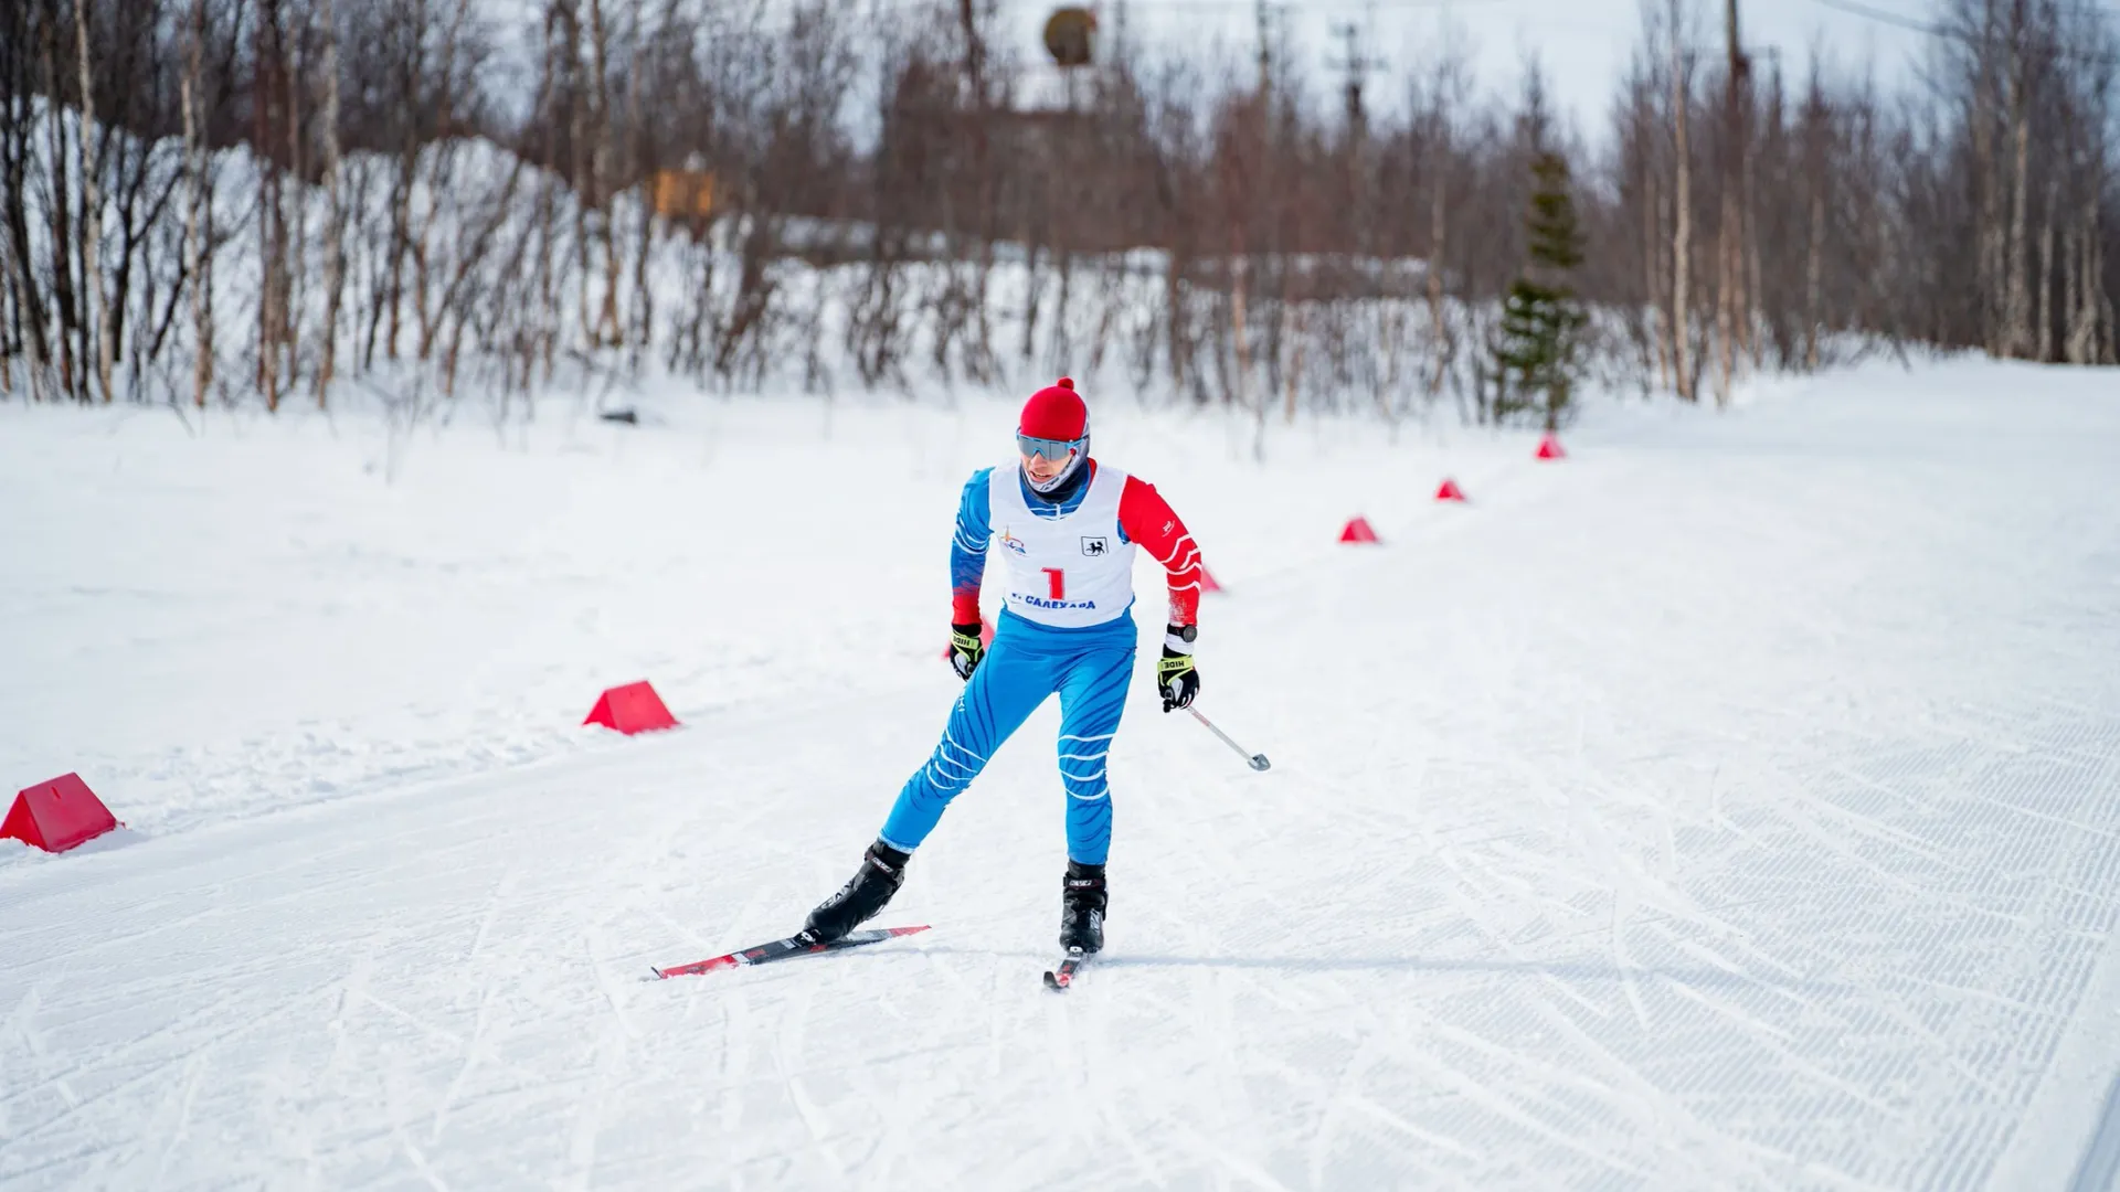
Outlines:
{"type": "Polygon", "coordinates": [[[1575,221],[1575,199],[1569,197],[1567,159],[1539,153],[1531,161],[1531,174],[1537,182],[1524,218],[1531,263],[1509,284],[1501,310],[1501,341],[1495,348],[1501,392],[1495,416],[1541,411],[1545,428],[1558,431],[1582,373],[1579,335],[1588,318],[1569,276],[1584,261],[1584,235],[1575,221]]]}

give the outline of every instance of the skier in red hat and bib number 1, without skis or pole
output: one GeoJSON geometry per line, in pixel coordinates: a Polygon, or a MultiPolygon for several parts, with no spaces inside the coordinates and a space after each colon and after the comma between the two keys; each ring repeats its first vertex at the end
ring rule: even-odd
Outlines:
{"type": "Polygon", "coordinates": [[[1147,481],[1090,458],[1090,409],[1075,382],[1041,388],[1015,422],[1018,462],[965,484],[950,543],[950,664],[965,679],[935,753],[899,791],[861,867],[825,899],[801,940],[825,944],[876,916],[905,882],[905,863],[943,808],[1047,696],[1060,696],[1060,781],[1066,787],[1066,876],[1060,946],[1105,946],[1105,857],[1111,785],[1105,755],[1119,732],[1134,670],[1134,549],[1170,581],[1170,619],[1155,681],[1164,711],[1191,706],[1200,613],[1200,547],[1147,481]],[[979,641],[979,579],[1001,543],[1007,604],[992,647],[979,641]]]}

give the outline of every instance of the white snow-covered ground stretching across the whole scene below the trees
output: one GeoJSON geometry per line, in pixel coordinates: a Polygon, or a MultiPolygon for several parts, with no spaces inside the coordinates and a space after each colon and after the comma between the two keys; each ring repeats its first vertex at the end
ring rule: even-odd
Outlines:
{"type": "Polygon", "coordinates": [[[2120,1164],[2120,378],[1874,367],[1605,409],[1558,464],[1353,420],[1255,464],[1102,403],[1227,588],[1200,706],[1274,768],[1143,670],[1064,997],[1052,708],[882,918],[933,931],[640,980],[795,927],[924,759],[1013,403],[668,409],[496,445],[0,405],[0,776],[127,821],[0,844],[0,1186],[2120,1164]],[[640,677],[683,730],[579,728],[640,677]]]}

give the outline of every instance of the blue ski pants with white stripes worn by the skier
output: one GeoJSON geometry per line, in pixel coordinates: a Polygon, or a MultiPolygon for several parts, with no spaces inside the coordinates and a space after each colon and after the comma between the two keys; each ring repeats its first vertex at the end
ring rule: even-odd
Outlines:
{"type": "Polygon", "coordinates": [[[1111,783],[1105,753],[1119,732],[1126,687],[1134,674],[1138,630],[1121,615],[1102,626],[1056,630],[1001,615],[994,645],[965,683],[926,766],[899,791],[880,834],[912,853],[950,800],[958,795],[1001,742],[1030,719],[1047,696],[1060,696],[1060,785],[1066,787],[1066,855],[1102,865],[1111,853],[1111,783]]]}

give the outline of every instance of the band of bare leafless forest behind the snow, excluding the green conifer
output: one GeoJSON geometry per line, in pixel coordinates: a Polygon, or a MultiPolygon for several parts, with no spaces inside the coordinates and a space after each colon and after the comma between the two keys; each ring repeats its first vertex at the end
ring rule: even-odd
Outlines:
{"type": "Polygon", "coordinates": [[[1242,64],[1128,42],[1109,2],[1049,47],[990,0],[519,13],[0,4],[0,399],[1115,369],[1259,418],[1486,422],[1543,157],[1609,386],[2116,363],[2120,21],[2086,0],[1942,0],[1895,89],[1753,57],[1738,0],[1647,0],[1596,146],[1535,70],[1484,98],[1461,40],[1304,76],[1270,34],[1242,64]]]}

